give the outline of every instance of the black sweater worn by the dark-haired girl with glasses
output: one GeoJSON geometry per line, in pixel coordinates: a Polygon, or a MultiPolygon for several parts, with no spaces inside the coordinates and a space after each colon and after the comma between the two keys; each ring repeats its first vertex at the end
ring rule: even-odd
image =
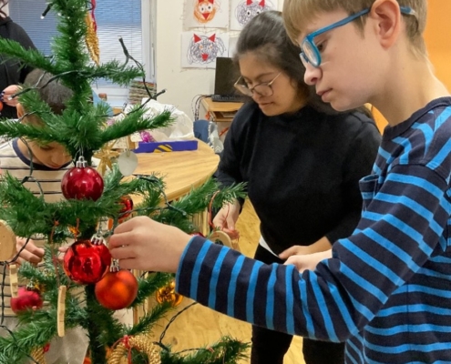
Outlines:
{"type": "Polygon", "coordinates": [[[229,130],[218,177],[247,182],[261,235],[276,254],[293,245],[349,236],[360,217],[358,181],[370,174],[381,136],[359,112],[327,116],[305,106],[265,116],[241,107],[229,130]]]}

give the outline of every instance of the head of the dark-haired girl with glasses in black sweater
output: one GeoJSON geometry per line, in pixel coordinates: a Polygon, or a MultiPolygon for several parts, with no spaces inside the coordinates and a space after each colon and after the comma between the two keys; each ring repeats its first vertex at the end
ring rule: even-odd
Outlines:
{"type": "Polygon", "coordinates": [[[318,103],[313,88],[305,84],[300,51],[301,48],[292,43],[285,31],[281,12],[263,12],[253,17],[241,30],[234,55],[234,62],[240,67],[242,76],[239,87],[241,92],[246,93],[252,86],[262,84],[248,96],[252,95],[264,114],[291,112],[311,102],[321,104],[324,111],[332,110],[321,101],[318,103]],[[277,78],[271,86],[266,86],[274,76],[277,78]],[[263,94],[265,90],[273,93],[260,96],[260,89],[263,94]]]}

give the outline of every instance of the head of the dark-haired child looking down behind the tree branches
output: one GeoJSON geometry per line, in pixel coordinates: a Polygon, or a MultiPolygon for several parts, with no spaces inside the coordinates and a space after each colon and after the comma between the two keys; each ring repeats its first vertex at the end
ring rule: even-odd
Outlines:
{"type": "MultiPolygon", "coordinates": [[[[54,114],[61,115],[66,108],[65,103],[67,99],[72,96],[72,91],[66,86],[61,85],[57,80],[49,82],[52,77],[53,75],[47,74],[41,69],[35,69],[26,76],[25,85],[36,87],[41,100],[50,106],[54,114]]],[[[23,123],[36,126],[43,125],[44,123],[36,115],[26,115],[26,110],[21,104],[17,105],[17,115],[22,117],[23,123]]],[[[53,169],[63,167],[71,160],[66,148],[56,142],[43,144],[38,141],[27,140],[26,146],[24,145],[21,149],[24,150],[26,156],[29,156],[29,152],[31,152],[33,162],[53,169]]]]}

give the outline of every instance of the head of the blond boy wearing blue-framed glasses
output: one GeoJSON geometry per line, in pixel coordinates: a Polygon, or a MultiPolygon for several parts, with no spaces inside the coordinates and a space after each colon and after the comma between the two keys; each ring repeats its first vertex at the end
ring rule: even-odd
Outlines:
{"type": "Polygon", "coordinates": [[[425,15],[425,0],[285,0],[283,11],[304,80],[324,102],[340,111],[370,103],[393,115],[395,96],[431,75],[425,15]]]}

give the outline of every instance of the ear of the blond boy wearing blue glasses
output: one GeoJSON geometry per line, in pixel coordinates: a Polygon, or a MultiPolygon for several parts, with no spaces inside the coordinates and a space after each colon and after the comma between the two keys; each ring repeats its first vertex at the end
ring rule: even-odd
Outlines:
{"type": "Polygon", "coordinates": [[[396,0],[375,0],[370,16],[376,20],[377,36],[384,48],[395,44],[401,33],[402,15],[396,0]]]}

